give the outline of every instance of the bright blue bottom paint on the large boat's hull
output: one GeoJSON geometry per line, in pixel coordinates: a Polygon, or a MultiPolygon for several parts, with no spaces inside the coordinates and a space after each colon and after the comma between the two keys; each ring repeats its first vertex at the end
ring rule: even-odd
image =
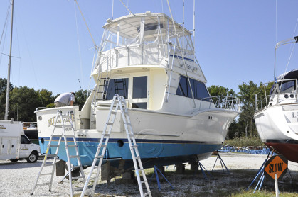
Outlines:
{"type": "MultiPolygon", "coordinates": [[[[91,166],[97,151],[98,142],[95,142],[95,140],[87,142],[80,138],[77,140],[82,165],[91,166]]],[[[72,141],[72,139],[68,139],[68,145],[73,145],[72,141]]],[[[42,154],[46,154],[48,142],[49,137],[39,137],[39,145],[42,154]],[[43,143],[41,143],[41,138],[43,138],[43,143]]],[[[53,139],[52,144],[58,144],[58,139],[53,139]]],[[[195,162],[197,154],[213,152],[215,150],[220,150],[222,147],[221,143],[210,145],[202,142],[166,140],[163,140],[162,142],[157,140],[147,140],[147,142],[144,142],[144,140],[142,142],[137,141],[137,145],[143,166],[146,168],[154,167],[156,164],[161,166],[181,164],[183,162],[195,162]]],[[[75,148],[69,147],[68,150],[70,155],[75,155],[75,148]]],[[[51,147],[48,154],[55,154],[55,151],[56,148],[51,147]]],[[[64,139],[61,140],[58,157],[65,161],[67,160],[64,139]]],[[[132,154],[127,139],[110,139],[107,144],[104,159],[109,160],[111,164],[115,166],[119,164],[120,160],[125,160],[127,168],[131,167],[129,163],[132,164],[132,154]]],[[[74,165],[78,165],[77,159],[70,159],[70,162],[74,165]]]]}

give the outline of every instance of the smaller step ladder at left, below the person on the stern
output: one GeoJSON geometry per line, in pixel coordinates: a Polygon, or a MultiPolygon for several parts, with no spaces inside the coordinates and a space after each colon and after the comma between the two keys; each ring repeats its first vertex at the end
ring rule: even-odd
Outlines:
{"type": "Polygon", "coordinates": [[[57,116],[55,117],[55,124],[53,126],[53,133],[50,135],[50,141],[48,142],[48,148],[46,150],[46,155],[43,159],[43,164],[41,165],[41,170],[38,173],[36,183],[33,186],[31,195],[33,195],[34,190],[36,189],[36,186],[47,186],[48,185],[48,191],[52,191],[52,185],[53,185],[53,176],[55,171],[55,164],[57,161],[58,151],[60,149],[60,144],[62,139],[64,138],[65,142],[65,151],[68,160],[66,161],[68,165],[68,171],[69,171],[69,182],[70,182],[70,196],[73,197],[73,179],[79,179],[83,178],[85,181],[85,175],[82,167],[82,163],[80,162],[80,155],[78,152],[78,144],[75,140],[75,131],[73,129],[73,111],[68,111],[67,115],[63,115],[62,111],[57,112],[57,116]],[[62,132],[58,132],[56,128],[62,128],[62,132]],[[72,131],[72,135],[66,135],[65,130],[72,131]],[[59,137],[58,144],[53,143],[53,138],[59,137]],[[73,141],[70,141],[69,139],[73,139],[73,141]],[[69,145],[69,142],[73,142],[71,145],[69,145]],[[56,147],[55,154],[49,154],[49,150],[51,147],[56,147]],[[75,149],[75,154],[70,155],[70,149],[75,149]],[[47,163],[48,157],[53,157],[53,162],[47,163]],[[78,166],[74,166],[70,163],[70,159],[77,159],[78,166]],[[43,167],[52,167],[51,173],[43,173],[43,167]],[[77,169],[80,168],[80,176],[73,177],[71,174],[71,169],[77,169]],[[50,181],[46,183],[38,184],[38,179],[40,176],[50,176],[50,181]]]}

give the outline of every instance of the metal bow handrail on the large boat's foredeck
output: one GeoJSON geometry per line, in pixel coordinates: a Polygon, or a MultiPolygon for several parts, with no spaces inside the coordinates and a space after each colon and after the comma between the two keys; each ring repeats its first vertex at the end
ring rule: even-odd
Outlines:
{"type": "Polygon", "coordinates": [[[240,99],[233,96],[209,96],[201,99],[199,110],[201,110],[201,104],[203,101],[209,102],[209,109],[211,103],[214,104],[215,108],[223,108],[233,111],[240,111],[240,99]]]}

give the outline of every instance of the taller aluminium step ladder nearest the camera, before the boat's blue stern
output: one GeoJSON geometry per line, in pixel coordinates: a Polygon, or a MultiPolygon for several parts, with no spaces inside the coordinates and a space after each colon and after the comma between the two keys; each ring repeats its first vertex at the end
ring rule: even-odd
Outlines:
{"type": "Polygon", "coordinates": [[[100,138],[100,142],[99,142],[98,147],[97,147],[97,151],[96,151],[93,163],[92,163],[92,167],[90,169],[89,175],[87,176],[87,180],[86,180],[85,186],[83,188],[81,197],[83,197],[85,195],[85,192],[86,192],[87,186],[89,184],[89,181],[91,179],[93,170],[97,169],[96,176],[93,178],[93,180],[94,180],[93,181],[93,186],[92,186],[91,189],[89,189],[89,191],[87,191],[89,196],[94,195],[95,187],[96,187],[96,184],[97,184],[97,179],[98,179],[98,176],[100,174],[100,169],[101,169],[101,166],[102,166],[102,160],[103,160],[104,155],[105,155],[105,150],[107,149],[107,143],[109,142],[109,139],[110,139],[112,126],[115,122],[115,118],[116,118],[118,108],[120,109],[120,111],[122,113],[122,119],[123,119],[124,127],[125,127],[125,130],[126,130],[126,133],[127,133],[127,140],[129,142],[130,152],[132,153],[132,160],[134,162],[134,169],[135,169],[135,173],[136,173],[136,176],[137,176],[137,182],[138,182],[138,185],[139,185],[139,192],[140,192],[142,197],[143,196],[151,197],[151,191],[150,191],[150,188],[149,188],[149,184],[148,184],[146,174],[145,174],[144,169],[143,169],[143,164],[142,164],[142,161],[141,161],[141,157],[139,156],[139,150],[137,148],[137,142],[134,138],[134,133],[133,133],[133,130],[132,130],[132,124],[130,123],[130,120],[129,120],[127,107],[126,107],[126,101],[125,101],[123,96],[119,96],[118,94],[115,94],[115,96],[113,97],[113,100],[112,100],[112,103],[111,103],[111,106],[110,106],[110,112],[107,116],[107,121],[105,123],[105,127],[102,130],[102,136],[100,138]],[[101,149],[102,149],[102,152],[100,152],[101,149]],[[95,165],[97,163],[97,159],[100,159],[100,162],[98,163],[97,167],[95,167],[95,165]],[[140,173],[142,174],[142,180],[141,180],[140,173]],[[146,193],[144,193],[144,191],[143,191],[143,184],[146,187],[146,191],[147,191],[146,193]]]}

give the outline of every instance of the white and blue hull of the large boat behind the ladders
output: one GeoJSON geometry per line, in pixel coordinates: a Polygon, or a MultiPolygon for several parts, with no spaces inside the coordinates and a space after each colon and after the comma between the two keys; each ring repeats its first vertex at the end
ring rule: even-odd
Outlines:
{"type": "MultiPolygon", "coordinates": [[[[70,110],[74,111],[74,113],[78,112],[78,109],[72,107],[60,109],[65,112],[70,110]]],[[[36,111],[38,116],[38,136],[42,153],[46,153],[50,135],[53,132],[55,111],[57,111],[57,108],[36,111]]],[[[105,123],[107,117],[104,116],[105,114],[106,111],[102,111],[102,116],[100,116],[100,113],[97,113],[97,127],[101,127],[102,123],[105,123]]],[[[105,152],[105,160],[110,160],[116,166],[123,164],[120,161],[124,161],[124,168],[129,169],[133,167],[132,155],[129,151],[125,130],[123,129],[121,113],[117,113],[117,116],[118,114],[119,117],[116,117],[105,152]]],[[[237,115],[238,112],[236,111],[220,109],[203,111],[193,116],[129,110],[134,136],[145,168],[154,167],[154,165],[194,162],[210,157],[213,151],[220,150],[228,127],[237,115]]],[[[74,114],[74,121],[77,118],[78,116],[74,114]]],[[[80,124],[75,122],[74,125],[78,127],[80,124]]],[[[61,130],[58,130],[58,132],[61,132],[61,130]]],[[[75,135],[83,166],[92,165],[97,145],[102,135],[102,128],[94,130],[78,128],[75,129],[75,135]]],[[[71,144],[71,140],[68,139],[68,143],[71,144]]],[[[53,138],[53,143],[58,143],[58,137],[53,138]]],[[[49,153],[53,152],[55,152],[55,148],[50,148],[49,153]]],[[[75,154],[74,150],[73,154],[75,154]]],[[[64,140],[61,142],[58,156],[60,159],[67,160],[64,140]]],[[[76,159],[73,159],[71,162],[76,164],[76,159]]]]}

